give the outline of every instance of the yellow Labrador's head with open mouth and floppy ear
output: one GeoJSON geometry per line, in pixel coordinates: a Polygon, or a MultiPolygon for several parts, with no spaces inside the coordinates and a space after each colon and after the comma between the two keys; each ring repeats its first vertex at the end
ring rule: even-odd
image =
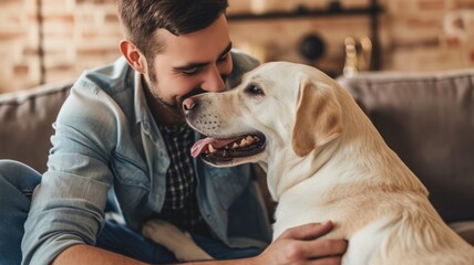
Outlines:
{"type": "Polygon", "coordinates": [[[189,97],[183,103],[186,120],[208,137],[192,155],[217,167],[305,157],[342,130],[334,86],[313,67],[274,62],[246,74],[235,89],[189,97]]]}

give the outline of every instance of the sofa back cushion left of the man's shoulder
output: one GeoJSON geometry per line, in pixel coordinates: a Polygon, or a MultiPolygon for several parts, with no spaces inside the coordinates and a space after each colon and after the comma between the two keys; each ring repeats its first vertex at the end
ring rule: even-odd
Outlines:
{"type": "Polygon", "coordinates": [[[0,159],[13,159],[43,172],[52,124],[72,82],[0,94],[0,159]]]}

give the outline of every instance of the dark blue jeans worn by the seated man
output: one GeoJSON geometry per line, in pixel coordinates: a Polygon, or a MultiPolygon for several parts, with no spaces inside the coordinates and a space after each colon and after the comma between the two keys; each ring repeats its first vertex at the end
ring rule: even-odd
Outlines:
{"type": "MultiPolygon", "coordinates": [[[[31,195],[41,182],[41,174],[12,160],[0,160],[0,264],[21,263],[23,223],[30,209],[31,195]]],[[[219,241],[192,234],[194,241],[216,259],[258,255],[258,247],[230,248],[219,241]]],[[[128,227],[106,221],[97,236],[96,246],[132,258],[153,263],[177,262],[163,246],[143,237],[128,227]]]]}

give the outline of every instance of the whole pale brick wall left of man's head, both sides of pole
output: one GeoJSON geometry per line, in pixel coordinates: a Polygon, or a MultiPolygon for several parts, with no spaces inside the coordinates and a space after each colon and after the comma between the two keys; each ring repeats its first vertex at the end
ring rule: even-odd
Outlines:
{"type": "Polygon", "coordinates": [[[120,56],[121,38],[115,0],[1,0],[0,93],[74,80],[120,56]]]}

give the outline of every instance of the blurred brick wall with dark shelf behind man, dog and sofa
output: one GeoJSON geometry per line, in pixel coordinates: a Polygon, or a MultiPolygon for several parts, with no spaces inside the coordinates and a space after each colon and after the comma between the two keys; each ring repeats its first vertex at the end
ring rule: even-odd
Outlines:
{"type": "MultiPolygon", "coordinates": [[[[474,66],[474,0],[229,0],[234,46],[329,75],[474,66]]],[[[0,93],[120,56],[115,0],[1,0],[0,93]]]]}

